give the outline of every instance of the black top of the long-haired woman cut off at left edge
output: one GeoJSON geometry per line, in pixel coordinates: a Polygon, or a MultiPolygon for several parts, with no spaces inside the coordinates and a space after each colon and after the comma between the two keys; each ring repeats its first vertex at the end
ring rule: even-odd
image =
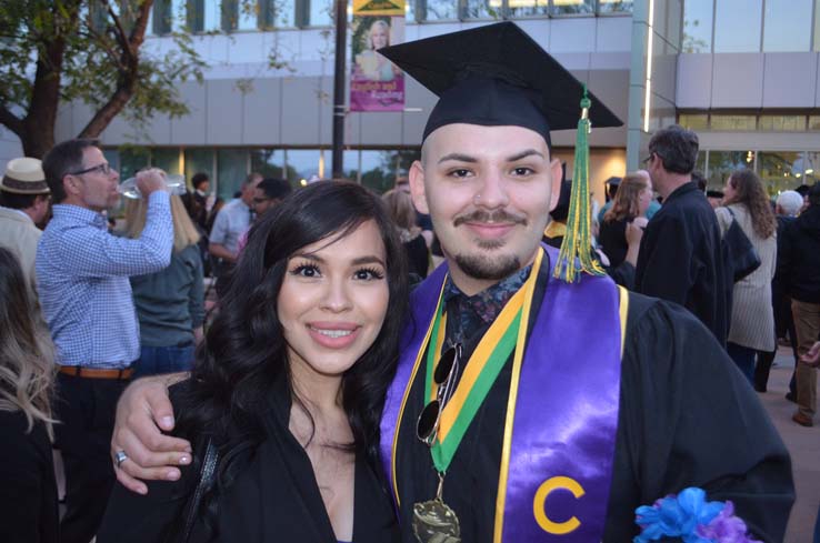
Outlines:
{"type": "Polygon", "coordinates": [[[57,543],[60,516],[51,441],[42,422],[27,433],[20,411],[0,411],[0,541],[57,543]]]}

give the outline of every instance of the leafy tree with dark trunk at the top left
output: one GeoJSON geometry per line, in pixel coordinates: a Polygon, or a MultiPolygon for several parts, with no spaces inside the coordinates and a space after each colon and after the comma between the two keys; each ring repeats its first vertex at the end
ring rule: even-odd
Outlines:
{"type": "Polygon", "coordinates": [[[202,81],[206,63],[188,32],[162,54],[143,48],[154,0],[0,1],[0,124],[28,157],[54,144],[60,102],[91,108],[77,134],[96,138],[122,113],[140,125],[157,113],[181,117],[180,82],[202,81]]]}

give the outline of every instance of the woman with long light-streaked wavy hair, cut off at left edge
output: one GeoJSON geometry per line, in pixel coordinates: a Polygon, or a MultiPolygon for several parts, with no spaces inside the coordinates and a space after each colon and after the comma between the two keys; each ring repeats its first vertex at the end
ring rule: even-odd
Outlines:
{"type": "Polygon", "coordinates": [[[0,248],[0,541],[57,543],[53,346],[31,319],[22,269],[0,248]]]}

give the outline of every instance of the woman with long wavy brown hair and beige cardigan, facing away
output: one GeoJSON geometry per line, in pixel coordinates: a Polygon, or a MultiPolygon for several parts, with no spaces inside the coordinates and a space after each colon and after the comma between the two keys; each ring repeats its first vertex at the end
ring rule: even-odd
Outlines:
{"type": "Polygon", "coordinates": [[[771,352],[776,348],[771,280],[777,269],[778,223],[763,183],[751,170],[738,170],[729,175],[723,189],[723,207],[714,212],[723,234],[732,221],[738,221],[760,257],[760,268],[734,283],[727,342],[729,355],[753,384],[757,353],[771,352]]]}

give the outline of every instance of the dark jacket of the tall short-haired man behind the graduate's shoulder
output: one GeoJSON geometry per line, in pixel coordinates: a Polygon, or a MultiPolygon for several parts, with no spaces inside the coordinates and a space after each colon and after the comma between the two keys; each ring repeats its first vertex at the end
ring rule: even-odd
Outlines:
{"type": "Polygon", "coordinates": [[[726,345],[733,288],[726,258],[714,210],[696,183],[687,183],[643,232],[634,290],[683,305],[726,345]]]}

